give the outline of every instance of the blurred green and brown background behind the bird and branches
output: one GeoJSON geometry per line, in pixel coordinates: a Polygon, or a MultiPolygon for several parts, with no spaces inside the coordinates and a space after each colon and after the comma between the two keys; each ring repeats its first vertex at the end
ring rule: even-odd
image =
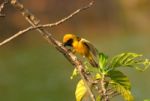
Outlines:
{"type": "MultiPolygon", "coordinates": [[[[20,1],[43,24],[55,22],[89,2],[20,1]]],[[[29,26],[10,5],[4,13],[0,41],[29,26]]],[[[110,57],[136,52],[150,58],[150,0],[97,0],[90,9],[48,30],[60,41],[65,33],[84,37],[110,57]]],[[[131,80],[135,101],[150,98],[150,69],[142,73],[122,70],[131,80]]],[[[0,101],[75,101],[77,80],[70,80],[72,71],[73,66],[37,31],[26,33],[0,47],[0,101]]]]}

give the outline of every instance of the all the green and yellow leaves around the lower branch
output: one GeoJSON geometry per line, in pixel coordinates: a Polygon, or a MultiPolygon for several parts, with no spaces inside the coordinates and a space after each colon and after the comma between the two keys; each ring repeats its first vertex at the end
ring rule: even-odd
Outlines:
{"type": "MultiPolygon", "coordinates": [[[[131,94],[131,83],[128,77],[117,69],[119,67],[132,67],[136,70],[144,71],[150,66],[150,61],[148,59],[143,59],[142,55],[136,53],[122,53],[114,56],[111,60],[108,61],[108,56],[100,53],[99,68],[91,67],[87,62],[85,62],[84,65],[86,67],[86,71],[93,76],[93,80],[101,80],[102,77],[109,78],[105,84],[105,89],[107,89],[107,87],[111,88],[112,91],[122,95],[125,101],[133,101],[134,97],[131,94]]],[[[75,69],[72,74],[72,78],[77,74],[77,70],[75,69]]],[[[84,82],[80,80],[77,84],[75,92],[76,101],[82,101],[86,93],[87,88],[84,85],[84,82]]],[[[100,100],[101,95],[97,95],[96,101],[100,100]]]]}

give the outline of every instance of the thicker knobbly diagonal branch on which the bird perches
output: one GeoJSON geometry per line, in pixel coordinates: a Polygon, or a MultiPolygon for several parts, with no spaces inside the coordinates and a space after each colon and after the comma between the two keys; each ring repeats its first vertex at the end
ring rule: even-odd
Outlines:
{"type": "MultiPolygon", "coordinates": [[[[18,2],[17,0],[11,0],[11,4],[18,9],[19,11],[21,11],[22,15],[26,18],[26,20],[35,28],[36,26],[38,26],[39,24],[39,20],[33,15],[31,14],[27,9],[24,8],[24,6],[18,2]]],[[[84,8],[85,9],[85,8],[84,8]]],[[[62,21],[63,22],[63,21],[62,21]]],[[[95,101],[94,95],[89,87],[89,82],[87,81],[87,76],[84,75],[84,66],[82,64],[82,62],[80,62],[77,57],[72,54],[72,52],[68,52],[67,48],[65,48],[61,42],[57,41],[54,37],[52,37],[52,34],[49,33],[47,30],[44,30],[43,28],[37,28],[37,30],[42,34],[42,36],[50,43],[52,43],[52,45],[55,46],[55,48],[61,52],[62,54],[64,54],[66,56],[66,58],[77,68],[82,80],[84,81],[88,93],[90,94],[91,100],[95,101]]]]}

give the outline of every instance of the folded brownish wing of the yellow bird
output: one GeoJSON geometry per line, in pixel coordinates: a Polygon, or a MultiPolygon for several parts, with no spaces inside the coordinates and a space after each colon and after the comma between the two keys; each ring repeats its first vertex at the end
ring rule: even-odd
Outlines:
{"type": "Polygon", "coordinates": [[[90,41],[83,38],[81,39],[81,41],[83,42],[83,44],[85,44],[85,46],[89,48],[90,52],[97,58],[98,50],[94,47],[94,45],[92,45],[90,41]]]}

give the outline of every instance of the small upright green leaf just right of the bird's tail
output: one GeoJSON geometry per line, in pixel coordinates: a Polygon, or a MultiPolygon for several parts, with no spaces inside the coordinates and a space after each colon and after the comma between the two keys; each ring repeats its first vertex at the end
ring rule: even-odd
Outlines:
{"type": "Polygon", "coordinates": [[[107,64],[108,56],[103,53],[99,53],[99,66],[101,69],[104,69],[107,64]]]}

